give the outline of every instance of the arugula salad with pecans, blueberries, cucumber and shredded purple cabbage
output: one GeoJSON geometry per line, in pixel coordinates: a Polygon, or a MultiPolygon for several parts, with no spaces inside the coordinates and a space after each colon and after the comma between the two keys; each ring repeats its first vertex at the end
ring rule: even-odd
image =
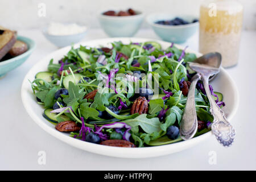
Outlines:
{"type": "MultiPolygon", "coordinates": [[[[71,137],[117,147],[149,147],[181,141],[179,125],[191,78],[194,53],[157,42],[71,48],[48,70],[35,75],[32,90],[43,117],[71,137]]],[[[213,92],[217,105],[222,94],[213,92]]],[[[195,94],[198,130],[213,117],[201,81],[195,94]]]]}

